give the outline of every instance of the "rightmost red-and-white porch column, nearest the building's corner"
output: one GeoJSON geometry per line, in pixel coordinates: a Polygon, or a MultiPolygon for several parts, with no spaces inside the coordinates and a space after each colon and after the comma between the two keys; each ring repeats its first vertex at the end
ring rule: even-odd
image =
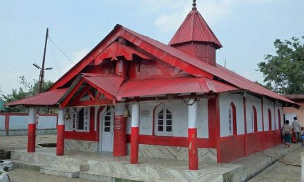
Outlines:
{"type": "Polygon", "coordinates": [[[197,111],[196,99],[191,99],[188,105],[188,156],[189,170],[198,170],[198,136],[197,136],[197,111]]]}

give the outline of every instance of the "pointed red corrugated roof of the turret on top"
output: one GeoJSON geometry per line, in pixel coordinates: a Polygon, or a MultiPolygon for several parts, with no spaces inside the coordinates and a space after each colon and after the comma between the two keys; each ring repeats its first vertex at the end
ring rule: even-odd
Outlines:
{"type": "Polygon", "coordinates": [[[210,42],[216,44],[217,48],[222,48],[222,44],[197,10],[189,12],[178,31],[172,37],[169,45],[189,41],[210,42]]]}

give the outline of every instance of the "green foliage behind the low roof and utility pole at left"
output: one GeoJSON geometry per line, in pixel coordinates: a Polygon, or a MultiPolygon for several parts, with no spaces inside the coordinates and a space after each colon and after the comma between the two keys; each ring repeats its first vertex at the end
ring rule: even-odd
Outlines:
{"type": "MultiPolygon", "coordinates": [[[[33,80],[33,82],[27,81],[26,78],[22,75],[19,77],[21,87],[19,89],[12,89],[11,94],[1,94],[4,103],[10,103],[12,101],[17,101],[20,99],[24,99],[26,97],[31,97],[35,94],[38,94],[39,91],[39,81],[33,80]]],[[[42,86],[42,92],[46,92],[50,86],[53,85],[53,81],[44,81],[42,86]]],[[[14,108],[5,108],[6,112],[27,112],[27,108],[22,105],[18,105],[14,108]]]]}

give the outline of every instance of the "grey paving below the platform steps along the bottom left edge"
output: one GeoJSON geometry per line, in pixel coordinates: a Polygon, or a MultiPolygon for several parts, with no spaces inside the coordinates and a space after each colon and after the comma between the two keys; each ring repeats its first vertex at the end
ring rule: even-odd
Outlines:
{"type": "Polygon", "coordinates": [[[10,176],[10,182],[91,182],[91,180],[78,178],[68,179],[61,176],[53,176],[50,174],[43,174],[37,171],[21,168],[11,170],[8,175],[10,176]]]}

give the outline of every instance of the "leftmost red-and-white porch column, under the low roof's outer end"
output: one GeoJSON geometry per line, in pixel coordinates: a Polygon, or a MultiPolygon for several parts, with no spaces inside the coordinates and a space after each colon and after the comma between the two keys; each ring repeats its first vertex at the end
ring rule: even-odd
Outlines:
{"type": "Polygon", "coordinates": [[[28,152],[35,152],[37,108],[30,108],[28,113],[28,152]]]}

